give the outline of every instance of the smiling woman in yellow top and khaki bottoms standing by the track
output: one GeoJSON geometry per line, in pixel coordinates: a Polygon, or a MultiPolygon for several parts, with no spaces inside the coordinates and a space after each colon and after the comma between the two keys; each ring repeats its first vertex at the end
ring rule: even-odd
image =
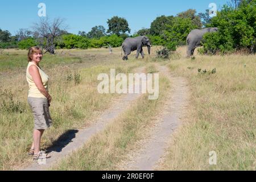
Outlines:
{"type": "Polygon", "coordinates": [[[49,105],[52,97],[48,93],[49,77],[39,67],[42,61],[43,53],[39,47],[31,47],[28,51],[28,66],[27,66],[27,82],[28,104],[31,107],[34,115],[35,127],[33,134],[33,143],[30,155],[34,155],[34,160],[43,156],[43,151],[40,151],[40,142],[44,130],[52,125],[51,115],[49,114],[49,105]]]}

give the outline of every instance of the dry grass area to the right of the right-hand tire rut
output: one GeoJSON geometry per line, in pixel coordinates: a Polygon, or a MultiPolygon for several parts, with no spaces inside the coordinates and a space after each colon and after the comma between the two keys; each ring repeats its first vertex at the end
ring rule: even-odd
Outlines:
{"type": "MultiPolygon", "coordinates": [[[[185,48],[179,48],[185,52],[185,48]]],[[[173,60],[170,71],[191,82],[191,106],[160,169],[256,169],[256,57],[200,56],[173,60]],[[207,73],[198,73],[207,69],[207,73]],[[217,73],[210,74],[216,68],[217,73]],[[216,151],[217,165],[209,165],[216,151]]]]}

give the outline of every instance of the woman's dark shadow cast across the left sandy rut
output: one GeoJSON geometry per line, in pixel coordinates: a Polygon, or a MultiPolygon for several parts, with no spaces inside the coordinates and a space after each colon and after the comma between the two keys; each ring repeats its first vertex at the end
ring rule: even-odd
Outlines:
{"type": "Polygon", "coordinates": [[[73,138],[76,138],[76,133],[79,130],[68,130],[62,134],[57,140],[55,140],[51,146],[46,148],[47,153],[61,152],[65,146],[72,142],[73,138]]]}

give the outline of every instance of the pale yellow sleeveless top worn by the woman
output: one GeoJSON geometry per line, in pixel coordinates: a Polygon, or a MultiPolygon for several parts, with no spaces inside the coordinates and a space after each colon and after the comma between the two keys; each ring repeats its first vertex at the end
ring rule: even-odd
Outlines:
{"type": "MultiPolygon", "coordinates": [[[[28,63],[27,65],[27,73],[26,73],[26,77],[27,77],[27,82],[28,82],[28,97],[35,97],[35,98],[46,98],[46,96],[44,96],[39,89],[37,88],[37,86],[35,85],[34,80],[32,79],[32,76],[30,75],[30,73],[28,72],[28,69],[30,68],[31,65],[36,65],[32,62],[28,63]]],[[[36,67],[38,67],[36,65],[36,67]]],[[[46,88],[46,90],[48,91],[48,81],[49,81],[49,77],[46,75],[46,73],[44,73],[44,71],[38,67],[40,76],[42,78],[42,82],[44,85],[44,88],[46,88]]]]}

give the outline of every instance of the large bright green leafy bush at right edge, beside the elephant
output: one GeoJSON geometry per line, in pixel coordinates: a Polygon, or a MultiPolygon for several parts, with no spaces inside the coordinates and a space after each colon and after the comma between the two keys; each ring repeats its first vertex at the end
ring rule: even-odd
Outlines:
{"type": "Polygon", "coordinates": [[[256,0],[244,1],[237,10],[224,6],[217,16],[212,18],[208,27],[218,27],[216,34],[206,34],[201,53],[232,53],[247,49],[256,51],[256,0]]]}

